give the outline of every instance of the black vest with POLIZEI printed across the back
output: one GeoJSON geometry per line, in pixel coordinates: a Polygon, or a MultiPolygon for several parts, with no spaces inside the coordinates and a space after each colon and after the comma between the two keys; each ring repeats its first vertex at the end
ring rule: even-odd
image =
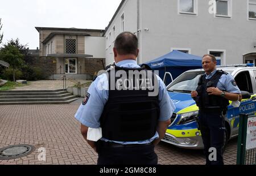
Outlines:
{"type": "MultiPolygon", "coordinates": [[[[131,89],[133,86],[130,86],[130,89],[123,90],[117,86],[114,86],[114,89],[111,87],[113,85],[111,81],[114,81],[114,85],[126,84],[127,87],[129,84],[127,81],[126,83],[119,81],[122,76],[113,77],[113,75],[117,74],[118,71],[125,71],[129,75],[129,71],[135,70],[141,71],[143,68],[133,69],[115,66],[114,69],[108,71],[109,98],[100,118],[103,138],[114,141],[139,141],[150,139],[155,135],[159,118],[158,92],[156,96],[148,96],[149,92],[153,92],[149,88],[138,90],[131,89]]],[[[152,84],[158,88],[158,81],[154,80],[154,73],[148,70],[143,71],[147,78],[152,80],[152,84]]],[[[135,85],[135,81],[138,81],[137,83],[144,87],[141,80],[142,76],[139,78],[135,79],[133,76],[130,83],[133,82],[135,85]]]]}

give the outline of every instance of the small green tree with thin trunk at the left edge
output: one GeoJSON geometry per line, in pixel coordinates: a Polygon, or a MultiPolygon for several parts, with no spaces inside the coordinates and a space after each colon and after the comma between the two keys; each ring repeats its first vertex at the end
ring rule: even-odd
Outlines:
{"type": "Polygon", "coordinates": [[[0,50],[0,59],[10,64],[10,69],[13,71],[13,81],[15,81],[15,72],[24,64],[24,54],[20,53],[16,46],[11,44],[4,45],[0,50]]]}

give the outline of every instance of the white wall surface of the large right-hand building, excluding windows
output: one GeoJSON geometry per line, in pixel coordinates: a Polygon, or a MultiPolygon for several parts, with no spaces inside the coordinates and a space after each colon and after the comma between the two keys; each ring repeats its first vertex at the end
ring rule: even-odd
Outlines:
{"type": "MultiPolygon", "coordinates": [[[[164,55],[171,48],[189,49],[195,55],[208,54],[209,50],[224,51],[222,63],[226,64],[242,63],[244,54],[256,52],[256,20],[247,18],[247,0],[232,0],[230,18],[210,14],[208,0],[196,1],[196,15],[180,14],[178,2],[139,0],[139,63],[164,55]]],[[[122,12],[125,12],[125,31],[137,31],[137,1],[126,0],[105,36],[113,25],[119,30],[122,12]]],[[[107,64],[113,61],[112,48],[113,45],[106,49],[107,64]]]]}

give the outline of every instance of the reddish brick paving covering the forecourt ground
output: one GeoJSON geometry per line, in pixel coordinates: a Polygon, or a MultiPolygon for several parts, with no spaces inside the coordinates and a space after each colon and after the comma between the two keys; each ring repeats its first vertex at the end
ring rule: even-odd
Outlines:
{"type": "MultiPolygon", "coordinates": [[[[94,165],[97,153],[80,134],[80,123],[74,118],[80,100],[69,105],[2,105],[0,106],[0,148],[14,144],[31,144],[35,151],[3,164],[94,165]],[[46,161],[39,161],[40,147],[46,148],[46,161]]],[[[224,153],[225,164],[236,164],[237,139],[230,140],[224,153]]],[[[177,148],[160,142],[155,148],[159,164],[202,165],[202,150],[177,148]]]]}

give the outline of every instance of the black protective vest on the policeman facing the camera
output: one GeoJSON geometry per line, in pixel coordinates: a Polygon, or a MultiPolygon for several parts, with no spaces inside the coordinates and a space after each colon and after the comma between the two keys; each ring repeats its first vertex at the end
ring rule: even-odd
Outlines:
{"type": "MultiPolygon", "coordinates": [[[[205,75],[202,75],[199,79],[198,87],[196,89],[198,96],[196,97],[196,105],[199,109],[202,108],[220,108],[226,109],[229,105],[229,100],[224,97],[216,95],[208,95],[207,88],[217,87],[218,80],[222,74],[228,74],[222,70],[217,70],[216,73],[210,79],[205,79],[205,75]]],[[[226,91],[226,90],[221,90],[226,91]]]]}

